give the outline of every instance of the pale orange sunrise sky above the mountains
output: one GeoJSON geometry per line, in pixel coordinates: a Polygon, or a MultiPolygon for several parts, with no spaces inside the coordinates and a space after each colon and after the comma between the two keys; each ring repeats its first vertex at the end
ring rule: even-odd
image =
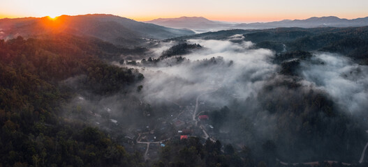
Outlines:
{"type": "Polygon", "coordinates": [[[137,21],[202,16],[226,22],[368,16],[367,0],[0,0],[0,18],[105,13],[137,21]]]}

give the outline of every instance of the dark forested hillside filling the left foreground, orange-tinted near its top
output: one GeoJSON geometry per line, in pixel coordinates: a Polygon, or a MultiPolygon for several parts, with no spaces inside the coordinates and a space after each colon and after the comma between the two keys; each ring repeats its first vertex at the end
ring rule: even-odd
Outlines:
{"type": "Polygon", "coordinates": [[[75,96],[64,79],[82,76],[82,88],[100,95],[143,79],[101,61],[111,53],[97,44],[65,34],[0,40],[0,166],[142,166],[140,154],[61,113],[75,96]]]}

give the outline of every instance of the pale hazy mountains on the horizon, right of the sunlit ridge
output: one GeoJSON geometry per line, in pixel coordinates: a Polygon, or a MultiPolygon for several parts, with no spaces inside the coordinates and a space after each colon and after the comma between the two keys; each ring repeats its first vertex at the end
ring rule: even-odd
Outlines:
{"type": "Polygon", "coordinates": [[[285,19],[279,22],[256,22],[231,24],[216,22],[204,17],[179,17],[170,19],[154,19],[147,23],[168,26],[176,29],[192,29],[193,31],[219,31],[221,29],[272,29],[278,27],[349,27],[368,26],[368,17],[358,19],[340,19],[339,17],[311,17],[309,19],[285,19]]]}

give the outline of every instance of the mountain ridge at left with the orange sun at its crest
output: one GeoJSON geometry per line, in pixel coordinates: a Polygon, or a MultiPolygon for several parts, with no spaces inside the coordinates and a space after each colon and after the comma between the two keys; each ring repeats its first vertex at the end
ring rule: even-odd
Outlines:
{"type": "Polygon", "coordinates": [[[18,35],[29,38],[47,33],[87,35],[120,45],[137,45],[142,38],[161,40],[194,34],[190,30],[136,22],[115,15],[61,15],[57,19],[50,17],[0,19],[0,39],[15,38],[18,35]]]}

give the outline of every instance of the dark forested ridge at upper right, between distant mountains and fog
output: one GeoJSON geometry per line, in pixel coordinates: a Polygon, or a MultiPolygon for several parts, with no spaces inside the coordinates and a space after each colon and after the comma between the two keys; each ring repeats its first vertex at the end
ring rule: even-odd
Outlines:
{"type": "Polygon", "coordinates": [[[201,33],[174,38],[174,40],[205,39],[224,40],[231,35],[242,34],[244,41],[255,43],[258,48],[267,48],[283,53],[287,51],[328,51],[344,54],[368,64],[368,26],[348,28],[277,28],[263,30],[228,30],[201,33]]]}

